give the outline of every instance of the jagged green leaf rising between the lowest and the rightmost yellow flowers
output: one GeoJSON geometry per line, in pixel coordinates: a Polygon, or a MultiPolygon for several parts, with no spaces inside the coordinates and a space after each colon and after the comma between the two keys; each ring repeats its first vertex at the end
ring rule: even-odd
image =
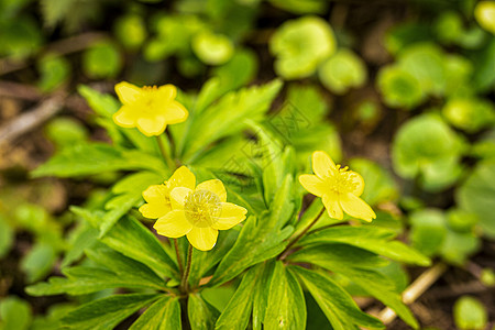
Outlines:
{"type": "Polygon", "coordinates": [[[265,211],[260,218],[250,217],[245,221],[235,244],[218,265],[210,285],[220,285],[246,267],[274,257],[284,250],[283,241],[293,231],[292,227],[282,229],[294,212],[294,204],[289,197],[292,183],[292,177],[287,176],[271,205],[270,212],[265,211]]]}

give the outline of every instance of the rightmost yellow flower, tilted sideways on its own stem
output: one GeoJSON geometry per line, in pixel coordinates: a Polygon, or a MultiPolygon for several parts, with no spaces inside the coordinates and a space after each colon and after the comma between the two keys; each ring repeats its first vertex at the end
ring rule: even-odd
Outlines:
{"type": "Polygon", "coordinates": [[[376,218],[373,209],[360,198],[364,180],[355,172],[341,168],[324,152],[312,153],[312,170],[316,175],[304,174],[299,182],[306,190],[321,197],[329,216],[341,220],[342,210],[351,217],[372,221],[376,218]]]}

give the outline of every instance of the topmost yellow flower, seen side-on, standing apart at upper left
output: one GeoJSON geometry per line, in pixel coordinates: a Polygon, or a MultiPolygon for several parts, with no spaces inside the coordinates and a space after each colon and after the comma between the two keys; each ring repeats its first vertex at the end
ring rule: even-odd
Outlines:
{"type": "Polygon", "coordinates": [[[122,81],[116,85],[116,92],[122,108],[113,114],[116,124],[122,128],[138,128],[146,136],[162,134],[167,124],[183,122],[189,113],[175,100],[174,85],[139,88],[122,81]]]}

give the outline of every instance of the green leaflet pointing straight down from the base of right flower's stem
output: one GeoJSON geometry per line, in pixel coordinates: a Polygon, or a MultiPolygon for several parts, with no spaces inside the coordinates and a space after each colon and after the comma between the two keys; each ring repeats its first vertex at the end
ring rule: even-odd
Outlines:
{"type": "Polygon", "coordinates": [[[304,329],[306,304],[302,288],[282,262],[276,262],[270,285],[264,329],[304,329]]]}

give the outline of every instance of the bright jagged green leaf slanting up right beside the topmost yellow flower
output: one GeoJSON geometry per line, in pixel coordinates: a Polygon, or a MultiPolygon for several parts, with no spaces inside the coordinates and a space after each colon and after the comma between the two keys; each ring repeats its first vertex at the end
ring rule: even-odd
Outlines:
{"type": "Polygon", "coordinates": [[[184,161],[190,163],[210,143],[240,132],[245,128],[246,119],[261,118],[268,110],[280,87],[279,80],[273,80],[263,86],[231,91],[194,118],[186,138],[184,161]]]}

